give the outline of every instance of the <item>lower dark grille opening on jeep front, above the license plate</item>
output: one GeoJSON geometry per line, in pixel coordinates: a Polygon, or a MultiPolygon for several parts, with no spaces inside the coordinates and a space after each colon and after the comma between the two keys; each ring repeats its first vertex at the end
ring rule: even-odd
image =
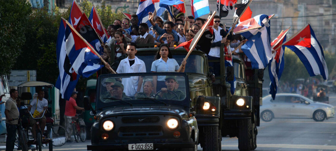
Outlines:
{"type": "Polygon", "coordinates": [[[119,128],[120,136],[160,136],[163,135],[162,128],[154,127],[121,127],[119,128]]]}

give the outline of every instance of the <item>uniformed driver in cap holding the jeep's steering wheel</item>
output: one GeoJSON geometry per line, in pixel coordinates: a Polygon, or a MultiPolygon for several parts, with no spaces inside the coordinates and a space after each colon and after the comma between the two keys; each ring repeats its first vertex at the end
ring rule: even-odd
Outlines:
{"type": "Polygon", "coordinates": [[[161,92],[158,94],[156,99],[172,99],[172,100],[183,100],[185,98],[185,94],[181,90],[175,89],[176,78],[175,76],[166,76],[165,84],[167,88],[161,88],[161,92]],[[171,91],[171,92],[170,92],[171,91]],[[176,95],[177,98],[176,98],[176,95]]]}

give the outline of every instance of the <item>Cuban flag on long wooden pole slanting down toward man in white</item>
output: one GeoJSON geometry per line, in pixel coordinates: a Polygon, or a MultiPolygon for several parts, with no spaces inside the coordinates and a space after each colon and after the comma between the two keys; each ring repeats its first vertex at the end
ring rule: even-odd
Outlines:
{"type": "Polygon", "coordinates": [[[76,31],[67,24],[65,30],[65,50],[74,71],[88,78],[101,68],[100,59],[92,50],[92,46],[81,39],[76,31]]]}

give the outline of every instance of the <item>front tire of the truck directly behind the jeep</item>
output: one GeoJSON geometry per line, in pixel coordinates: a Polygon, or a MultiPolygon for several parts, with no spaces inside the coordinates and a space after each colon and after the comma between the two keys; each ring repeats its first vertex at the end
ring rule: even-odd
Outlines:
{"type": "Polygon", "coordinates": [[[206,126],[204,129],[203,151],[218,151],[218,127],[206,126]]]}

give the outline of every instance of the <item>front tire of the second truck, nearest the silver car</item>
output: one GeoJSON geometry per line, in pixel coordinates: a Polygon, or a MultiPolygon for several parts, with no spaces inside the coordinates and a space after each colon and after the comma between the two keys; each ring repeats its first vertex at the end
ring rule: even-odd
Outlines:
{"type": "Polygon", "coordinates": [[[239,151],[251,150],[251,119],[242,119],[239,124],[238,148],[239,151]]]}

